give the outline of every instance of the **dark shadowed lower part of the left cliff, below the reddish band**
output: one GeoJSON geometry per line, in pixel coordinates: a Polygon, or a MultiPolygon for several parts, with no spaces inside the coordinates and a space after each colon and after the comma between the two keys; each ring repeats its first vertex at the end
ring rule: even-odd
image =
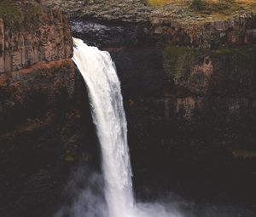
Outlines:
{"type": "Polygon", "coordinates": [[[8,100],[10,105],[1,119],[0,134],[0,212],[4,217],[52,216],[67,200],[62,192],[70,173],[79,164],[99,168],[96,133],[79,72],[65,64],[55,71],[33,72],[22,75],[24,80],[12,87],[19,102],[0,94],[1,101],[8,100]],[[29,82],[33,84],[26,86],[29,82]],[[27,92],[22,89],[17,94],[24,86],[27,92]]]}

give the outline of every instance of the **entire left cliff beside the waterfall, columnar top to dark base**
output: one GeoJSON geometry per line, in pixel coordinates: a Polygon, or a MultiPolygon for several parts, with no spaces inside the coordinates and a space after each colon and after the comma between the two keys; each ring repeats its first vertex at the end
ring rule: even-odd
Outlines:
{"type": "Polygon", "coordinates": [[[0,2],[4,217],[52,216],[70,170],[77,163],[95,166],[98,154],[84,81],[71,60],[67,16],[28,2],[0,2]]]}

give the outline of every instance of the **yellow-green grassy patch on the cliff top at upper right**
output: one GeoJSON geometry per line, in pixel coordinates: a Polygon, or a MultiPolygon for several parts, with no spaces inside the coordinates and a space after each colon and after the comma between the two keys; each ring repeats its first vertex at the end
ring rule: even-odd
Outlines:
{"type": "Polygon", "coordinates": [[[148,0],[154,15],[172,20],[207,22],[256,13],[255,0],[148,0]]]}

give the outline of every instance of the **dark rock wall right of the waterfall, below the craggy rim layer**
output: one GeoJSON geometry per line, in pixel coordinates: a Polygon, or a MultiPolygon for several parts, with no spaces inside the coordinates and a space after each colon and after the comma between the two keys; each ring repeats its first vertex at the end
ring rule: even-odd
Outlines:
{"type": "Polygon", "coordinates": [[[167,46],[111,54],[137,191],[148,184],[192,199],[255,203],[255,50],[167,46]]]}

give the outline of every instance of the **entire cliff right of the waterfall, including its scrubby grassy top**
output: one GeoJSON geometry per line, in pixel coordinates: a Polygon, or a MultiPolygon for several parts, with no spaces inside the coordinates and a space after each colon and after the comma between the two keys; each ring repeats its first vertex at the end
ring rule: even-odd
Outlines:
{"type": "Polygon", "coordinates": [[[43,3],[67,12],[74,36],[110,51],[137,191],[255,203],[255,1],[43,3]]]}

